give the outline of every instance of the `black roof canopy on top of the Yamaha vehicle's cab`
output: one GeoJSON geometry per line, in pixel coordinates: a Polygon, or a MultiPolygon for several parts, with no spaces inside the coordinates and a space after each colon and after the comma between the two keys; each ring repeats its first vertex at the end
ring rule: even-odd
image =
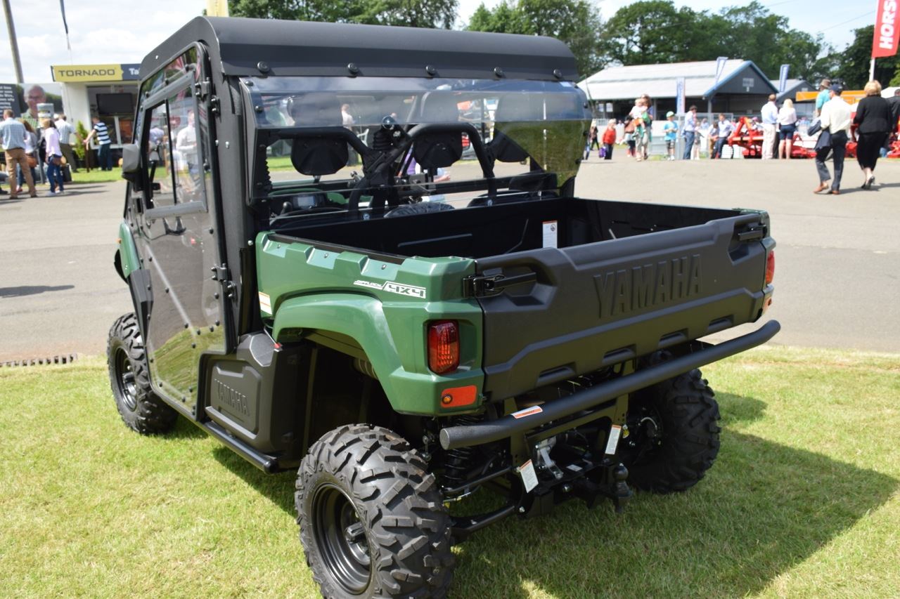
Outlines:
{"type": "Polygon", "coordinates": [[[144,58],[141,75],[153,74],[194,41],[210,49],[213,67],[220,63],[223,74],[234,76],[578,77],[572,52],[553,38],[234,17],[188,22],[144,58]]]}

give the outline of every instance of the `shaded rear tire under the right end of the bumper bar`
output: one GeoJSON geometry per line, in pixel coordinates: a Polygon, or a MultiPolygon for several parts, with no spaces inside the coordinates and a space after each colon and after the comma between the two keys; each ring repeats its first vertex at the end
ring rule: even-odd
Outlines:
{"type": "Polygon", "coordinates": [[[632,434],[622,451],[629,484],[671,493],[704,477],[716,460],[722,430],[713,396],[696,369],[635,394],[628,407],[632,434]]]}

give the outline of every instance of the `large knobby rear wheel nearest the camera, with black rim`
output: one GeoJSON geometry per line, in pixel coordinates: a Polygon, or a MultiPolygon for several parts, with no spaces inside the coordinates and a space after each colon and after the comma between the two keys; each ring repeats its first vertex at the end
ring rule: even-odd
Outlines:
{"type": "Polygon", "coordinates": [[[449,516],[428,464],[399,435],[373,425],[325,434],[296,489],[300,540],[323,596],[446,596],[449,516]]]}

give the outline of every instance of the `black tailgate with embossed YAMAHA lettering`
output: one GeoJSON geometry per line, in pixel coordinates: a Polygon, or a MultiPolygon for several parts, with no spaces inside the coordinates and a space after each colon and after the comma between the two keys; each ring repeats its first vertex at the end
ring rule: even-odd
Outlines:
{"type": "Polygon", "coordinates": [[[478,259],[485,391],[508,398],[756,320],[768,226],[752,212],[478,259]]]}

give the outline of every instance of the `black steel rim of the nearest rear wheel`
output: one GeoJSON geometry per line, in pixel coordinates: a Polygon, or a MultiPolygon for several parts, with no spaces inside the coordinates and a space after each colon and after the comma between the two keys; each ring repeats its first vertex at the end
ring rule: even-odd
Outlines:
{"type": "Polygon", "coordinates": [[[334,484],[316,489],[312,498],[313,535],[331,577],[351,595],[360,595],[369,586],[372,558],[350,498],[334,484]]]}

